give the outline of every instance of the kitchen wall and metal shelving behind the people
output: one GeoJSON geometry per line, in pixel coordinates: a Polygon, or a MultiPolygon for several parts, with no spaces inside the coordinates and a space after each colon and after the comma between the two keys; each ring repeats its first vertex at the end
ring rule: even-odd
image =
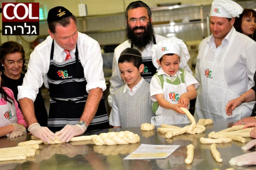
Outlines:
{"type": "MultiPolygon", "coordinates": [[[[1,0],[1,2],[35,2],[40,3],[42,20],[40,20],[40,35],[33,42],[27,42],[20,36],[3,36],[0,22],[0,43],[14,40],[21,43],[26,52],[26,62],[36,45],[45,40],[47,32],[47,14],[55,6],[64,6],[77,17],[79,32],[83,32],[97,40],[102,47],[104,74],[108,84],[111,77],[113,49],[124,42],[125,9],[134,0],[1,0]],[[87,16],[79,16],[78,4],[86,4],[87,16]]],[[[236,1],[236,0],[235,0],[236,1]]],[[[152,24],[156,34],[165,37],[176,36],[188,46],[191,59],[189,66],[195,68],[198,46],[201,40],[210,35],[208,14],[212,0],[143,0],[152,11],[152,24]]],[[[256,0],[236,1],[243,8],[256,9],[256,0]]],[[[0,4],[2,8],[2,3],[0,4]]],[[[2,14],[0,15],[2,20],[2,14]]],[[[42,90],[46,104],[49,103],[47,89],[42,90]]],[[[105,97],[108,90],[105,92],[105,97]]]]}

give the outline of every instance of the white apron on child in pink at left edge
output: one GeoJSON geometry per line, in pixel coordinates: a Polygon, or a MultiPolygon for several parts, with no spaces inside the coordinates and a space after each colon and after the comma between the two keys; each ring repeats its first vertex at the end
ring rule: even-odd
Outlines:
{"type": "MultiPolygon", "coordinates": [[[[0,95],[0,97],[2,97],[2,95],[0,95]]],[[[0,127],[17,123],[16,108],[14,104],[7,102],[5,105],[0,105],[0,115],[0,127]]]]}

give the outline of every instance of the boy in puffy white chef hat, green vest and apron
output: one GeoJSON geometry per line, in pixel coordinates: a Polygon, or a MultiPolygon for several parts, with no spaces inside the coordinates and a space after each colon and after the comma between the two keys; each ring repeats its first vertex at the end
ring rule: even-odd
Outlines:
{"type": "Polygon", "coordinates": [[[196,98],[198,82],[192,74],[179,68],[180,63],[186,66],[190,58],[186,44],[176,37],[160,41],[151,49],[151,56],[159,69],[150,82],[155,113],[151,124],[189,123],[179,107],[188,108],[189,101],[196,98]]]}

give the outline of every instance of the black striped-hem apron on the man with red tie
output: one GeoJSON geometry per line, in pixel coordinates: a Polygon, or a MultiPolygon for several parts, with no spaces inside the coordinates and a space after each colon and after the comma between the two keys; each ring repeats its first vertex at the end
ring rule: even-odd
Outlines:
{"type": "MultiPolygon", "coordinates": [[[[49,71],[47,73],[50,95],[48,128],[52,132],[61,130],[67,124],[77,124],[84,112],[88,97],[86,92],[87,81],[84,78],[84,69],[78,56],[58,63],[53,60],[54,42],[50,56],[49,71]]],[[[104,98],[99,103],[98,110],[87,130],[109,128],[108,114],[104,98]]]]}

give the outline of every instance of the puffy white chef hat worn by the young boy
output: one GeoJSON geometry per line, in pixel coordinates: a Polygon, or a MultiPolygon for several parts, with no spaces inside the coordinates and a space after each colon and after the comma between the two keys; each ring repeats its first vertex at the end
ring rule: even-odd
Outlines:
{"type": "Polygon", "coordinates": [[[159,69],[157,60],[160,60],[163,55],[177,54],[180,57],[180,68],[184,68],[188,65],[190,58],[189,50],[183,40],[177,37],[170,37],[167,40],[162,40],[151,49],[152,62],[154,66],[159,69]]]}

